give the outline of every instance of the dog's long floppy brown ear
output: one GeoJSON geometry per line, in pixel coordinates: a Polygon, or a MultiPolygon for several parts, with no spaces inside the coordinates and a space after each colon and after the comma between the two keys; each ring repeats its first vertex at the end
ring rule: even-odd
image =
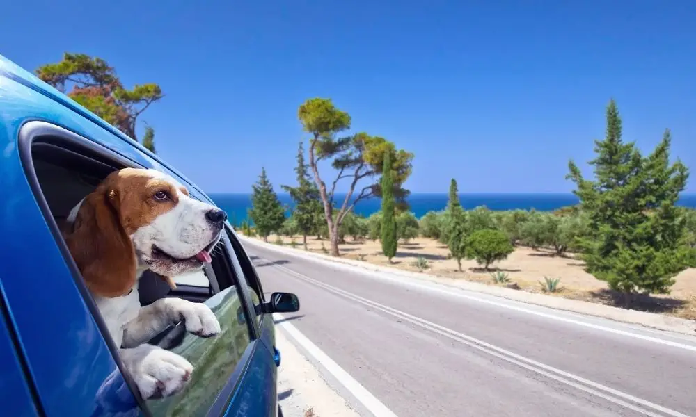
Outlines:
{"type": "Polygon", "coordinates": [[[136,279],[135,250],[120,221],[118,190],[110,182],[85,197],[64,232],[87,287],[102,297],[129,293],[136,279]]]}

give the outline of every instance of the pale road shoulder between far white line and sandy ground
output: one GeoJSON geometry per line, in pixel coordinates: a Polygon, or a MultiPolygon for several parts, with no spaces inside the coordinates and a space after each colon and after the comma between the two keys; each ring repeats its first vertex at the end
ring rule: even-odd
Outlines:
{"type": "Polygon", "coordinates": [[[443,277],[436,277],[434,275],[427,275],[425,273],[409,272],[399,270],[396,268],[389,268],[382,265],[373,265],[371,263],[354,261],[352,259],[333,258],[331,256],[323,254],[305,252],[303,250],[292,249],[290,247],[283,247],[273,245],[271,243],[264,243],[261,240],[247,238],[246,236],[242,236],[240,234],[237,234],[237,236],[240,240],[242,240],[242,243],[248,243],[250,245],[256,245],[258,247],[264,247],[269,250],[273,250],[274,252],[288,254],[290,256],[298,256],[299,258],[308,259],[310,261],[318,261],[322,263],[330,263],[333,265],[341,265],[344,268],[358,268],[363,271],[374,272],[378,274],[388,274],[391,276],[403,277],[405,279],[412,279],[415,281],[427,281],[429,283],[439,284],[440,286],[459,288],[465,291],[473,291],[476,293],[494,295],[497,297],[506,298],[508,300],[545,306],[551,309],[571,311],[587,316],[607,318],[609,320],[640,325],[643,327],[649,327],[651,329],[658,329],[667,332],[676,332],[679,334],[688,334],[689,336],[696,335],[696,322],[693,322],[691,320],[685,320],[672,316],[664,316],[656,313],[646,313],[644,311],[619,309],[617,307],[606,306],[603,304],[595,304],[580,300],[569,300],[562,297],[553,297],[551,295],[527,293],[525,291],[518,291],[509,288],[487,286],[485,284],[478,284],[476,282],[470,282],[465,280],[447,279],[443,277]]]}

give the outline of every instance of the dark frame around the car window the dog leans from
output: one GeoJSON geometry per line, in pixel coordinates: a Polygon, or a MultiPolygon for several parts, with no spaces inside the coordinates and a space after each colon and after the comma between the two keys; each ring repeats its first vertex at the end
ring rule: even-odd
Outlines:
{"type": "MultiPolygon", "coordinates": [[[[110,133],[105,131],[104,134],[110,133]]],[[[79,272],[79,268],[77,268],[77,264],[75,263],[72,254],[70,254],[68,246],[65,244],[65,240],[63,239],[60,228],[56,223],[54,214],[52,213],[43,193],[38,175],[35,171],[35,155],[33,152],[35,149],[37,149],[37,145],[45,145],[47,148],[54,147],[61,149],[61,152],[63,152],[64,155],[70,155],[72,158],[79,158],[81,161],[84,161],[84,163],[90,163],[93,164],[93,166],[102,165],[101,169],[111,169],[112,171],[121,169],[123,167],[148,168],[155,167],[155,165],[151,164],[150,166],[145,166],[141,163],[137,163],[136,161],[127,158],[127,156],[124,156],[113,149],[100,145],[94,140],[90,140],[89,138],[81,136],[78,133],[74,133],[73,131],[59,126],[58,124],[47,122],[45,120],[28,120],[24,122],[24,124],[19,127],[17,145],[20,163],[22,165],[22,170],[24,171],[24,178],[26,179],[27,183],[29,183],[31,193],[35,198],[38,207],[40,208],[42,217],[44,218],[52,237],[54,238],[54,243],[63,256],[65,266],[70,272],[73,283],[77,288],[79,295],[81,295],[81,299],[84,302],[86,309],[89,311],[90,316],[95,321],[97,329],[99,329],[102,336],[102,340],[104,340],[104,343],[109,349],[109,353],[116,364],[116,368],[118,368],[118,371],[124,379],[125,384],[128,386],[134,399],[136,400],[137,407],[139,407],[139,410],[145,416],[152,416],[152,412],[147,407],[145,400],[143,400],[141,397],[137,385],[135,384],[131,375],[129,375],[129,373],[125,370],[125,366],[120,359],[120,355],[118,354],[118,347],[115,343],[113,343],[113,338],[111,338],[111,335],[109,334],[106,323],[104,322],[104,318],[102,318],[102,315],[94,302],[91,293],[84,284],[84,279],[79,272]]],[[[142,154],[137,148],[134,149],[139,154],[142,154]]],[[[155,167],[155,169],[157,169],[157,167],[155,167]]],[[[174,176],[178,177],[177,175],[174,176]]],[[[190,185],[187,181],[182,182],[190,185]]],[[[209,198],[205,198],[205,195],[200,193],[195,188],[193,191],[193,197],[196,197],[196,199],[199,200],[202,199],[201,197],[203,197],[204,201],[207,199],[208,203],[214,204],[209,200],[209,198]]],[[[227,238],[227,236],[223,236],[223,238],[227,238]]],[[[242,304],[244,304],[244,314],[248,322],[247,328],[249,332],[249,343],[244,350],[244,354],[242,354],[242,357],[240,357],[239,361],[237,362],[235,369],[229,375],[226,386],[221,389],[215,402],[210,405],[208,410],[209,414],[213,410],[224,411],[227,409],[230,401],[232,400],[231,394],[234,393],[234,389],[242,381],[242,376],[244,373],[246,373],[246,369],[250,366],[252,354],[258,348],[257,342],[259,341],[259,331],[258,325],[256,325],[256,320],[250,320],[250,315],[252,312],[254,312],[254,309],[248,295],[246,279],[239,279],[240,268],[236,254],[234,251],[232,251],[231,254],[229,253],[230,244],[227,240],[225,245],[227,250],[224,253],[227,253],[226,256],[228,257],[228,261],[233,265],[233,268],[230,269],[230,272],[232,272],[232,277],[230,277],[230,279],[232,280],[232,285],[236,287],[235,291],[237,291],[237,296],[240,297],[242,304]]],[[[212,283],[210,283],[210,285],[212,286],[212,283]]],[[[217,276],[216,287],[219,291],[220,286],[217,276]]]]}

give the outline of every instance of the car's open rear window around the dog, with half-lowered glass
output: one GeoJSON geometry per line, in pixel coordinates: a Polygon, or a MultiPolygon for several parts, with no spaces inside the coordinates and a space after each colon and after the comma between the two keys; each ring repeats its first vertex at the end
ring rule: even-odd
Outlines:
{"type": "MultiPolygon", "coordinates": [[[[87,140],[72,138],[72,133],[57,132],[62,136],[47,136],[42,138],[42,142],[32,145],[31,157],[40,187],[35,192],[45,198],[49,215],[60,225],[75,204],[94,190],[106,175],[124,167],[125,163],[108,149],[88,149],[92,145],[87,145],[87,140]],[[70,149],[63,147],[65,143],[70,149]]],[[[125,162],[128,164],[125,166],[132,166],[131,162],[125,162]]],[[[54,236],[60,244],[65,245],[59,233],[54,236]]],[[[223,236],[223,240],[226,239],[223,236]]],[[[253,346],[251,342],[255,337],[255,327],[252,313],[246,308],[246,295],[240,298],[239,281],[227,247],[229,245],[223,242],[215,248],[212,263],[205,270],[177,277],[177,288],[171,293],[169,288],[160,291],[163,281],[156,275],[149,274],[141,279],[141,302],[143,298],[150,303],[161,297],[173,296],[203,302],[212,309],[221,325],[220,334],[202,338],[187,333],[185,324],[179,323],[150,341],[182,355],[194,368],[191,381],[182,392],[139,403],[141,407],[149,409],[153,416],[203,416],[217,400],[223,403],[228,400],[226,397],[231,395],[230,386],[234,386],[237,375],[241,374],[244,363],[240,362],[246,358],[245,352],[253,346]],[[149,280],[152,284],[147,291],[144,291],[143,280],[149,280]]],[[[67,249],[64,253],[70,256],[67,249]]],[[[232,256],[235,255],[232,253],[232,256]]],[[[76,282],[84,287],[79,272],[76,282]]],[[[86,290],[84,294],[89,296],[86,290]]],[[[90,311],[95,316],[100,315],[96,308],[90,311]]],[[[108,330],[103,324],[99,325],[102,334],[109,338],[108,330]]],[[[114,357],[118,356],[117,350],[110,351],[114,357]]]]}

